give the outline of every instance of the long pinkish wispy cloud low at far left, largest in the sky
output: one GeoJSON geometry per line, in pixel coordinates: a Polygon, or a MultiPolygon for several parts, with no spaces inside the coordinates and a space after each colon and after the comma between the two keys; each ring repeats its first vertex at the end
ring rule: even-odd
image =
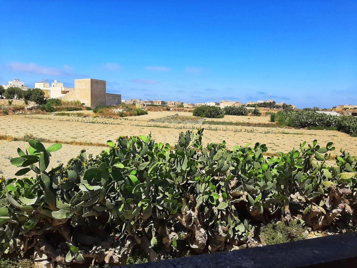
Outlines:
{"type": "MultiPolygon", "coordinates": [[[[42,75],[54,75],[54,76],[75,76],[77,74],[71,73],[68,69],[68,65],[64,66],[64,70],[40,66],[35,63],[21,63],[21,62],[11,62],[9,64],[4,64],[3,69],[7,71],[16,71],[23,73],[32,74],[42,74],[42,75]]],[[[71,69],[73,71],[73,68],[71,69]]]]}

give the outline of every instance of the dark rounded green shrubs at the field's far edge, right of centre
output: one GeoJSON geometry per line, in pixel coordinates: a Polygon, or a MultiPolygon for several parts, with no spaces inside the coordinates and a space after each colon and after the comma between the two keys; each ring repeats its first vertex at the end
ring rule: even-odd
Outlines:
{"type": "Polygon", "coordinates": [[[218,106],[198,106],[193,110],[193,115],[198,117],[206,117],[206,118],[223,118],[224,115],[248,115],[248,112],[253,116],[260,116],[260,111],[255,109],[248,110],[244,106],[226,106],[221,109],[218,106]]]}

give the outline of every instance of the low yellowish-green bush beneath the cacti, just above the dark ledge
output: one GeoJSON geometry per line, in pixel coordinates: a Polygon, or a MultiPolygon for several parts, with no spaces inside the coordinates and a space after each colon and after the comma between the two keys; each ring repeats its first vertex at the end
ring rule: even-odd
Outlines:
{"type": "Polygon", "coordinates": [[[307,238],[305,229],[296,219],[286,223],[268,223],[260,230],[260,240],[267,245],[303,240],[307,238]]]}

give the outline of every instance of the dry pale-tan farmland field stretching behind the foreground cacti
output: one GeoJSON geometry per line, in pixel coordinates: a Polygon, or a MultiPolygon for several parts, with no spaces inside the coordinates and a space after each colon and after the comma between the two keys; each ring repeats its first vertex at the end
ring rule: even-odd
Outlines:
{"type": "MultiPolygon", "coordinates": [[[[268,154],[287,152],[298,148],[303,141],[312,143],[314,139],[321,145],[333,142],[336,150],[348,150],[357,155],[357,138],[332,130],[285,129],[269,122],[268,116],[233,116],[222,119],[193,117],[187,112],[149,112],[147,115],[127,118],[107,119],[93,117],[92,111],[69,113],[70,116],[55,114],[7,115],[0,116],[0,170],[5,177],[12,177],[17,168],[9,159],[16,157],[16,149],[28,147],[23,139],[25,134],[63,143],[63,149],[52,155],[53,166],[76,157],[82,148],[97,154],[106,146],[106,141],[120,135],[147,135],[151,133],[156,142],[174,145],[181,131],[205,128],[203,144],[219,143],[225,140],[227,147],[256,142],[265,143],[268,154]],[[178,114],[178,115],[176,115],[178,114]]],[[[45,143],[46,144],[46,143],[45,143]]]]}

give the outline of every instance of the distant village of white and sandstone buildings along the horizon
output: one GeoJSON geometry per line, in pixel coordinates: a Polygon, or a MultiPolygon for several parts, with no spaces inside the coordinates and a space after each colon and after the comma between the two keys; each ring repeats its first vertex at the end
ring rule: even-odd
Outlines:
{"type": "MultiPolygon", "coordinates": [[[[6,90],[8,88],[20,88],[22,91],[26,91],[29,89],[28,86],[25,85],[23,81],[20,79],[14,79],[13,81],[9,81],[7,85],[2,85],[2,87],[6,90]]],[[[283,101],[281,103],[276,103],[276,101],[269,100],[258,100],[258,101],[249,101],[247,103],[241,103],[239,101],[231,101],[231,100],[221,100],[220,102],[216,101],[208,101],[206,103],[185,103],[182,101],[165,101],[165,100],[141,100],[141,99],[129,99],[124,100],[121,99],[120,94],[112,94],[106,93],[106,81],[97,80],[97,79],[75,79],[75,86],[67,87],[64,86],[63,83],[58,80],[54,80],[51,83],[47,81],[47,79],[40,80],[35,83],[34,88],[39,88],[44,91],[44,97],[49,99],[63,99],[63,100],[79,100],[87,106],[95,107],[99,105],[120,105],[120,104],[128,104],[128,105],[136,105],[137,107],[145,107],[145,106],[170,106],[170,107],[182,107],[182,108],[195,108],[197,106],[219,106],[220,108],[225,108],[226,106],[246,106],[247,109],[254,109],[255,107],[266,107],[270,109],[282,109],[283,105],[288,105],[293,109],[296,109],[296,106],[293,104],[285,104],[283,101]]],[[[4,94],[3,94],[4,95],[4,94]]],[[[4,96],[0,96],[0,98],[4,98],[4,96]]],[[[355,111],[346,111],[357,109],[357,105],[338,105],[333,109],[340,109],[345,111],[345,114],[353,113],[355,115],[355,111]]],[[[331,112],[330,111],[322,111],[324,113],[331,112]]],[[[326,109],[325,109],[326,110],[326,109]]],[[[351,114],[352,115],[352,114],[351,114]]]]}

